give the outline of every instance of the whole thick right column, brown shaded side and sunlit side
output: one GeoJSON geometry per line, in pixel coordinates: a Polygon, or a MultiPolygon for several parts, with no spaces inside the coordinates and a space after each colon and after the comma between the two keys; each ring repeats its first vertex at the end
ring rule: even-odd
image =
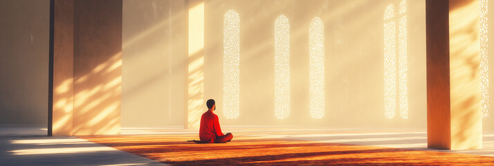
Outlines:
{"type": "Polygon", "coordinates": [[[478,0],[426,1],[428,147],[482,148],[478,0]]]}

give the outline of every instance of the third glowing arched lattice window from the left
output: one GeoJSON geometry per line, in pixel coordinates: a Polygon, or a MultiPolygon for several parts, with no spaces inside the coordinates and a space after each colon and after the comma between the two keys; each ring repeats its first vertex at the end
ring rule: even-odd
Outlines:
{"type": "Polygon", "coordinates": [[[324,117],[324,24],[319,17],[309,28],[310,111],[312,118],[324,117]]]}

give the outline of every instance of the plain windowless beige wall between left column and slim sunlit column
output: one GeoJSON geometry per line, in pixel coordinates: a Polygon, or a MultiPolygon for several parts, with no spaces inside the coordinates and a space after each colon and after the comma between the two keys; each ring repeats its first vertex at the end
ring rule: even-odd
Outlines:
{"type": "Polygon", "coordinates": [[[122,127],[183,125],[185,1],[124,0],[122,127]]]}

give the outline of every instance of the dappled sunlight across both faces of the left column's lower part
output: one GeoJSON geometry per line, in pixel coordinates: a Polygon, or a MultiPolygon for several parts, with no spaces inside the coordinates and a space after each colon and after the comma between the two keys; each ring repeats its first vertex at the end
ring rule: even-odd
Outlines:
{"type": "MultiPolygon", "coordinates": [[[[77,86],[86,86],[90,82],[107,81],[86,86],[85,89],[74,91],[73,96],[65,96],[53,101],[54,109],[64,109],[66,113],[53,122],[53,129],[73,126],[71,130],[73,135],[120,132],[120,111],[115,110],[120,110],[121,66],[121,53],[117,53],[106,62],[95,66],[89,73],[75,77],[73,82],[75,89],[77,86]]],[[[63,95],[66,91],[72,91],[72,81],[72,78],[69,78],[55,87],[54,95],[63,95]]]]}

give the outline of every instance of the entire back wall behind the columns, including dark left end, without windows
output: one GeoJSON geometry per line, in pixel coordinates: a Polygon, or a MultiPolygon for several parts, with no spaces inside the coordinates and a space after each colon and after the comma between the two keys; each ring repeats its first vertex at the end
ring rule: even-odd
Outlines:
{"type": "MultiPolygon", "coordinates": [[[[46,125],[48,3],[0,0],[1,124],[46,125]]],[[[383,12],[390,3],[398,6],[385,0],[206,1],[204,98],[217,100],[222,125],[425,128],[425,1],[408,1],[409,119],[383,116],[383,12]],[[222,26],[223,15],[230,9],[239,12],[241,19],[237,120],[226,120],[221,112],[222,26]],[[281,14],[289,18],[292,32],[291,116],[286,120],[277,120],[273,111],[273,23],[281,14]],[[325,27],[327,110],[322,120],[309,118],[308,109],[307,37],[312,17],[321,17],[325,27]]],[[[489,6],[494,8],[494,3],[489,6]]],[[[182,41],[186,39],[183,8],[185,1],[123,1],[122,127],[183,124],[186,63],[181,58],[187,53],[182,41]]],[[[494,18],[494,12],[488,15],[494,18]]],[[[488,23],[494,25],[494,19],[488,23]]],[[[488,44],[492,48],[494,40],[488,44]]],[[[494,71],[494,56],[489,56],[489,62],[494,71]]],[[[494,85],[490,87],[493,96],[494,85]]],[[[484,129],[494,127],[492,101],[484,129]]]]}

